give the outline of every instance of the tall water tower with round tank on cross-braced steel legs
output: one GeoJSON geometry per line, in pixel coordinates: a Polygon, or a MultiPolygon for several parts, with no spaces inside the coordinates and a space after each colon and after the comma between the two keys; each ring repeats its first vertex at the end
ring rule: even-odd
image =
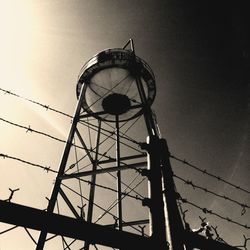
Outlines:
{"type": "MultiPolygon", "coordinates": [[[[163,143],[150,108],[155,98],[155,78],[147,63],[135,55],[132,40],[124,48],[98,53],[83,66],[77,97],[78,104],[47,212],[55,212],[58,200],[63,200],[67,210],[79,220],[99,222],[121,232],[132,227],[130,232],[142,233],[143,237],[151,235],[155,247],[167,249],[161,184],[161,165],[166,159],[160,158],[163,143]],[[142,121],[138,123],[145,132],[138,131],[138,127],[133,131],[140,117],[142,121]],[[89,127],[91,132],[86,134],[79,128],[81,125],[89,127]],[[141,143],[146,137],[147,142],[141,143]],[[132,189],[136,176],[140,182],[144,181],[146,190],[148,181],[149,196],[145,191],[142,196],[132,189]],[[114,179],[111,185],[104,181],[109,182],[110,178],[114,179]],[[101,187],[104,190],[99,192],[101,187]],[[67,189],[78,193],[79,199],[69,197],[67,189]],[[105,194],[105,189],[107,192],[115,190],[116,197],[105,194]],[[137,203],[132,206],[144,217],[129,218],[133,211],[129,211],[126,203],[129,204],[132,198],[137,203]],[[98,205],[100,201],[102,204],[98,205]],[[103,211],[96,217],[98,206],[103,211]],[[138,225],[147,225],[148,221],[148,233],[142,227],[140,232],[138,225]]],[[[43,230],[37,249],[44,247],[46,238],[47,232],[43,230]]],[[[84,249],[89,249],[90,243],[85,241],[84,249]]]]}

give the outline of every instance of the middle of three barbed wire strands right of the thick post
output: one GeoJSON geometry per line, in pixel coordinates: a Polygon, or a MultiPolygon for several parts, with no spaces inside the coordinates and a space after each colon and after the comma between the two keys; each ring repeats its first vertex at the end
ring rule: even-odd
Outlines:
{"type": "Polygon", "coordinates": [[[239,206],[242,208],[241,215],[244,215],[244,214],[246,213],[246,208],[248,208],[248,209],[250,208],[250,206],[249,206],[248,204],[243,204],[243,203],[241,203],[241,202],[239,202],[239,201],[236,201],[236,200],[230,198],[229,196],[220,195],[220,194],[215,193],[215,192],[213,192],[213,191],[211,191],[211,190],[209,190],[209,189],[207,189],[207,188],[204,188],[204,187],[202,187],[202,186],[198,186],[198,185],[194,184],[193,181],[186,180],[186,179],[184,179],[184,178],[182,178],[182,177],[180,177],[180,176],[177,176],[177,175],[175,175],[175,174],[173,174],[173,176],[174,176],[175,178],[181,180],[181,181],[184,182],[185,184],[191,186],[191,187],[194,188],[194,189],[197,188],[197,189],[203,190],[205,193],[212,194],[212,195],[214,195],[214,196],[217,196],[217,197],[219,197],[219,198],[222,198],[222,199],[224,199],[224,200],[227,200],[227,201],[230,201],[230,202],[232,202],[232,203],[234,203],[234,204],[239,205],[239,206]]]}

